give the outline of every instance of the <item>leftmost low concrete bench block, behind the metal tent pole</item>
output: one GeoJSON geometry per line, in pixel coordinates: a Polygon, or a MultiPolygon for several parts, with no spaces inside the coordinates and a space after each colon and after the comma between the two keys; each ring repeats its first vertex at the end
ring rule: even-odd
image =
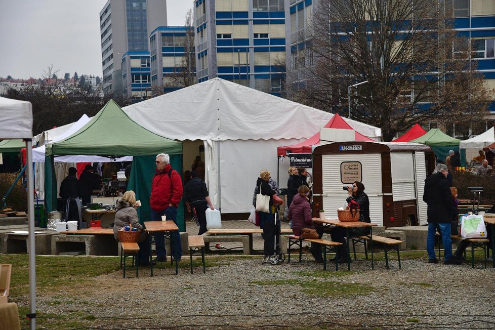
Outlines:
{"type": "MultiPolygon", "coordinates": [[[[34,235],[34,251],[37,255],[50,255],[52,253],[52,236],[60,233],[44,231],[34,235]]],[[[27,234],[7,232],[0,234],[0,251],[2,253],[29,253],[27,234]]]]}

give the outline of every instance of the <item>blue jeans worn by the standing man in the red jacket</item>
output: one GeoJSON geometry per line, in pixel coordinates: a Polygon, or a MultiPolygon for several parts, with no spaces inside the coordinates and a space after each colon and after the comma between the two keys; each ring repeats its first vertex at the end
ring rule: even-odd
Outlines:
{"type": "MultiPolygon", "coordinates": [[[[177,224],[177,208],[168,207],[165,210],[156,212],[151,210],[151,221],[161,221],[161,216],[167,216],[167,220],[173,220],[177,224]]],[[[165,234],[163,232],[157,232],[153,234],[155,237],[156,246],[156,258],[165,259],[167,257],[167,251],[165,250],[165,234]]],[[[174,259],[180,260],[182,257],[182,244],[181,235],[179,231],[173,231],[170,233],[170,244],[174,253],[174,259]]]]}

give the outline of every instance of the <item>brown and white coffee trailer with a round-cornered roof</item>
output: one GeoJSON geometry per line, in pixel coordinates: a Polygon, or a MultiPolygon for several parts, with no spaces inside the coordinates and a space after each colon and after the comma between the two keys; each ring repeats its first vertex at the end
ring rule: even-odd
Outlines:
{"type": "Polygon", "coordinates": [[[347,141],[313,146],[312,214],[337,218],[348,197],[343,186],[359,181],[372,223],[385,227],[427,223],[425,179],[435,169],[431,148],[417,143],[347,141]]]}

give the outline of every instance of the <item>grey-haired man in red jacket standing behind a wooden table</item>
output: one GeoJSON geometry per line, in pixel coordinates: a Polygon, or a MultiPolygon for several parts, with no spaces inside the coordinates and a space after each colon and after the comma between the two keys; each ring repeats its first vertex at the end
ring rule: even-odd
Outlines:
{"type": "MultiPolygon", "coordinates": [[[[170,166],[170,157],[166,153],[156,155],[156,173],[151,184],[151,220],[161,221],[161,216],[167,216],[167,220],[177,223],[177,207],[182,199],[182,179],[176,170],[170,166]]],[[[165,238],[163,232],[155,233],[156,259],[154,261],[167,261],[165,251],[165,238]]],[[[174,260],[180,261],[182,257],[182,245],[179,231],[171,233],[171,245],[174,260]]]]}

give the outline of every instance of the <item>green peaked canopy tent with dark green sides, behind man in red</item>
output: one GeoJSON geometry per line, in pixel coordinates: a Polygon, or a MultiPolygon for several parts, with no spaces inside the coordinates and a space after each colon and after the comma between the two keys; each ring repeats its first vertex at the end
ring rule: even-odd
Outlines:
{"type": "MultiPolygon", "coordinates": [[[[141,200],[142,207],[138,209],[140,222],[150,220],[151,182],[155,173],[155,156],[159,153],[168,153],[172,167],[182,173],[181,142],[146,130],[129,118],[113,100],[108,101],[80,130],[64,140],[47,144],[46,156],[50,157],[45,161],[47,210],[53,210],[57,200],[56,182],[48,179],[53,171],[54,156],[134,156],[128,189],[134,190],[137,199],[141,200]]],[[[183,209],[179,205],[177,214],[177,224],[182,231],[185,230],[183,209]]]]}

